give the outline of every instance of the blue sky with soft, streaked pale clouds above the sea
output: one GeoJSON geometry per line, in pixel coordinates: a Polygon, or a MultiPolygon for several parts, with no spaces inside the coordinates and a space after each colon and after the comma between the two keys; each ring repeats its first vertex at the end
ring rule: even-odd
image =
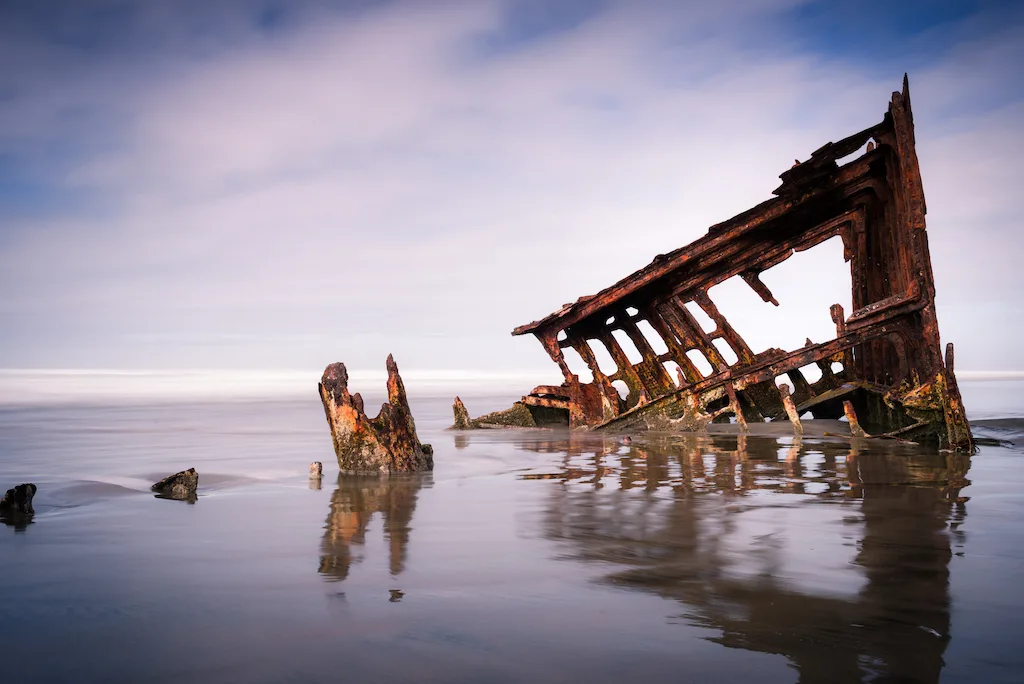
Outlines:
{"type": "MultiPolygon", "coordinates": [[[[943,340],[1024,370],[1019,5],[0,0],[0,368],[557,382],[514,327],[769,199],[906,72],[943,340]]],[[[712,296],[756,351],[823,341],[841,253],[769,271],[779,309],[712,296]]]]}

